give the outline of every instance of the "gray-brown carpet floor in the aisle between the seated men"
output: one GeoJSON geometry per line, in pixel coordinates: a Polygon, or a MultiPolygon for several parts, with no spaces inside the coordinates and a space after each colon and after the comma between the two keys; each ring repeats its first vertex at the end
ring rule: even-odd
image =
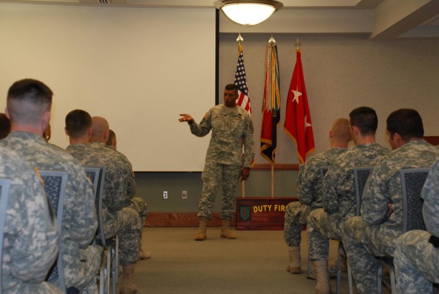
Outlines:
{"type": "MultiPolygon", "coordinates": [[[[195,227],[148,227],[143,249],[152,258],[137,262],[139,294],[148,293],[315,293],[307,280],[307,242],[302,232],[301,275],[286,271],[287,245],[283,231],[235,231],[236,240],[219,238],[219,227],[209,227],[207,239],[193,240],[195,227]]],[[[337,242],[331,241],[330,259],[337,242]]],[[[331,280],[333,291],[336,280],[331,280]]],[[[348,293],[342,273],[341,293],[348,293]]],[[[356,293],[354,289],[354,293],[356,293]]],[[[383,293],[388,293],[385,287],[383,293]]]]}

